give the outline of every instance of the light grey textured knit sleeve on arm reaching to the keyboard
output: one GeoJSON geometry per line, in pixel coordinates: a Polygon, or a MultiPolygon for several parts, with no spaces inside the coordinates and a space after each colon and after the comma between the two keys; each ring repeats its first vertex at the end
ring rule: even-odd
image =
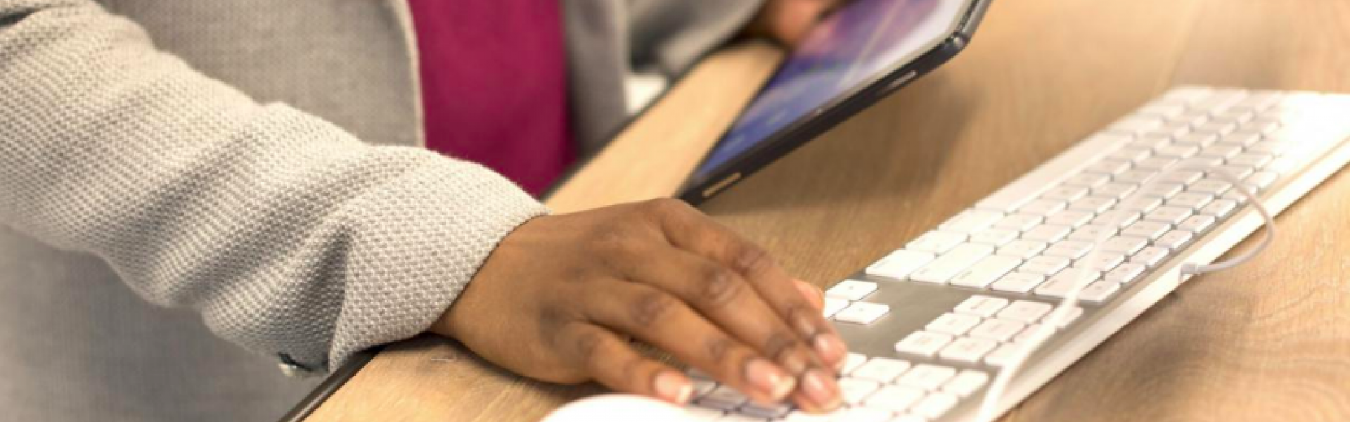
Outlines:
{"type": "Polygon", "coordinates": [[[0,0],[0,223],[306,369],[416,335],[547,210],[474,164],[259,104],[88,0],[0,0]]]}

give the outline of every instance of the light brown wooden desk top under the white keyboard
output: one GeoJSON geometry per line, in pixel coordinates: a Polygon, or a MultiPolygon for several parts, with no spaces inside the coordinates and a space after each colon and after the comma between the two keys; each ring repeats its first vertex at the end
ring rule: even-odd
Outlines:
{"type": "MultiPolygon", "coordinates": [[[[833,283],[1173,84],[1350,92],[1347,22],[1339,0],[995,1],[950,65],[703,208],[833,283]]],[[[1183,285],[1007,419],[1350,419],[1346,207],[1338,174],[1284,212],[1254,262],[1183,285]]],[[[310,421],[536,421],[595,391],[421,338],[310,421]]]]}

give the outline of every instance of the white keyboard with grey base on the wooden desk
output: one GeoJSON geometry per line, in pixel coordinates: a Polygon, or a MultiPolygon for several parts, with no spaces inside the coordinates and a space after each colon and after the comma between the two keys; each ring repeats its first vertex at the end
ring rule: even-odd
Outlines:
{"type": "Polygon", "coordinates": [[[1260,226],[1214,169],[1280,212],[1350,161],[1347,135],[1350,96],[1172,89],[828,289],[825,315],[856,352],[840,377],[845,408],[756,404],[694,372],[691,414],[973,421],[1015,348],[1094,277],[1014,376],[998,402],[1006,411],[1174,289],[1188,277],[1181,264],[1210,264],[1260,226]]]}

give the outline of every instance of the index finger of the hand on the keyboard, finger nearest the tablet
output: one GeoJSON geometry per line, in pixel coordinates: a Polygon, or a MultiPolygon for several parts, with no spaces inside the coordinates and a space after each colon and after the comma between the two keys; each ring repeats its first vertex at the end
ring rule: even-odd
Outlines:
{"type": "Polygon", "coordinates": [[[656,200],[662,231],[675,248],[693,252],[740,273],[783,319],[807,339],[825,364],[838,368],[848,354],[819,308],[798,292],[794,280],[761,248],[745,241],[694,207],[678,200],[656,200]]]}

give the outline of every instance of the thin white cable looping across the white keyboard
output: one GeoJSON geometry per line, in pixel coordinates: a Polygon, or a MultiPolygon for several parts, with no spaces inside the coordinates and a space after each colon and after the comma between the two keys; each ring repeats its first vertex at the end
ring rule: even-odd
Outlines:
{"type": "MultiPolygon", "coordinates": [[[[1261,218],[1265,219],[1265,227],[1266,227],[1265,237],[1261,238],[1261,242],[1257,243],[1257,246],[1223,262],[1216,262],[1210,265],[1183,264],[1181,276],[1203,275],[1216,271],[1224,271],[1237,266],[1242,262],[1250,261],[1253,257],[1264,252],[1266,246],[1270,246],[1270,242],[1274,241],[1274,216],[1270,214],[1270,210],[1268,210],[1264,204],[1261,204],[1261,199],[1257,197],[1256,193],[1253,193],[1250,189],[1242,185],[1241,180],[1238,180],[1237,177],[1233,176],[1233,173],[1228,173],[1224,169],[1210,168],[1210,166],[1187,168],[1173,164],[1164,168],[1153,177],[1145,180],[1143,185],[1141,185],[1138,191],[1126,195],[1126,200],[1138,199],[1142,192],[1149,191],[1153,185],[1161,181],[1164,174],[1170,174],[1177,170],[1202,170],[1212,176],[1219,176],[1219,179],[1223,179],[1224,181],[1233,184],[1233,189],[1235,189],[1238,193],[1242,193],[1242,196],[1247,199],[1247,203],[1250,203],[1253,207],[1257,208],[1257,212],[1260,212],[1261,218]]],[[[1122,200],[1122,203],[1125,203],[1126,200],[1122,200]]],[[[1115,223],[1114,226],[1119,226],[1122,220],[1123,216],[1118,218],[1114,222],[1115,223]]],[[[1106,242],[1111,235],[1115,235],[1115,233],[1102,230],[1102,233],[1098,234],[1098,238],[1092,242],[1092,249],[1081,260],[1081,262],[1096,262],[1098,256],[1102,252],[1100,245],[1106,242]]],[[[1073,271],[1073,268],[1071,266],[1065,271],[1073,271]]],[[[986,391],[984,399],[980,402],[980,408],[979,413],[976,414],[975,421],[992,422],[998,417],[998,413],[995,411],[996,410],[995,407],[998,406],[998,399],[1002,398],[1003,394],[1007,391],[1008,384],[1013,381],[1013,376],[1017,375],[1019,369],[1022,369],[1022,365],[1026,364],[1031,353],[1035,353],[1035,350],[1040,349],[1041,345],[1045,344],[1045,341],[1049,339],[1050,335],[1053,335],[1054,331],[1058,330],[1058,327],[1065,323],[1065,321],[1069,318],[1069,314],[1079,304],[1079,294],[1083,292],[1083,288],[1085,288],[1088,284],[1096,280],[1096,277],[1088,277],[1094,272],[1095,271],[1091,268],[1088,268],[1087,271],[1081,271],[1083,277],[1080,277],[1080,280],[1073,283],[1073,285],[1065,292],[1064,300],[1060,300],[1060,304],[1056,306],[1053,311],[1050,311],[1050,315],[1046,316],[1045,323],[1037,327],[1037,330],[1031,334],[1031,338],[1029,338],[1022,348],[1018,348],[1017,353],[1014,353],[1014,356],[1008,360],[1008,362],[1003,367],[1003,369],[999,371],[999,373],[994,377],[994,383],[990,384],[990,390],[986,391]]]]}

